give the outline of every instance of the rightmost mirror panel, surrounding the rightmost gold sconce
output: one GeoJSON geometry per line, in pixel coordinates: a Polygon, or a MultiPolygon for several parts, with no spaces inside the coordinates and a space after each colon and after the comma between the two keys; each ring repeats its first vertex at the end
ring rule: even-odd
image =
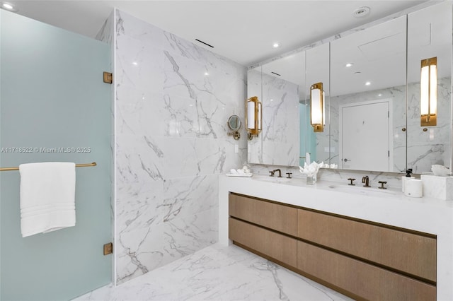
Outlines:
{"type": "Polygon", "coordinates": [[[416,173],[452,165],[452,1],[408,14],[407,164],[416,173]],[[437,124],[420,125],[420,62],[437,58],[437,124]]]}

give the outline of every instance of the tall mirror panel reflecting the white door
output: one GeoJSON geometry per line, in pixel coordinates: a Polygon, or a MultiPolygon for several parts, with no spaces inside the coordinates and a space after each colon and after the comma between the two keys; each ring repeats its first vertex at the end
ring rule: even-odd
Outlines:
{"type": "Polygon", "coordinates": [[[338,168],[406,168],[406,16],[331,42],[330,103],[338,168]]]}

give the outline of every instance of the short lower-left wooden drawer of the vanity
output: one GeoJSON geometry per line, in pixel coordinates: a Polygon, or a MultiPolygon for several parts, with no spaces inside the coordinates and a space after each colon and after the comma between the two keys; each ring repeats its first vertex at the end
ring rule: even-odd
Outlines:
{"type": "Polygon", "coordinates": [[[297,264],[297,240],[294,238],[229,218],[229,239],[290,266],[297,264]]]}

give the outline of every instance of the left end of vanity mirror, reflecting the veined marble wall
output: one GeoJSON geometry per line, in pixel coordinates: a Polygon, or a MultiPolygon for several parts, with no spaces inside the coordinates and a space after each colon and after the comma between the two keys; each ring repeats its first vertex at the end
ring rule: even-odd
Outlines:
{"type": "Polygon", "coordinates": [[[263,105],[261,133],[248,141],[248,163],[299,165],[304,61],[299,52],[248,71],[248,98],[258,96],[263,105]]]}

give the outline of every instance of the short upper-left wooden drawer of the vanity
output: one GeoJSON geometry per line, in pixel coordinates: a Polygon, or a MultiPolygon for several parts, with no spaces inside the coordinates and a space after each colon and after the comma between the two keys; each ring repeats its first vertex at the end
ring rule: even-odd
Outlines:
{"type": "Polygon", "coordinates": [[[229,215],[289,235],[297,235],[297,208],[229,194],[229,215]]]}

